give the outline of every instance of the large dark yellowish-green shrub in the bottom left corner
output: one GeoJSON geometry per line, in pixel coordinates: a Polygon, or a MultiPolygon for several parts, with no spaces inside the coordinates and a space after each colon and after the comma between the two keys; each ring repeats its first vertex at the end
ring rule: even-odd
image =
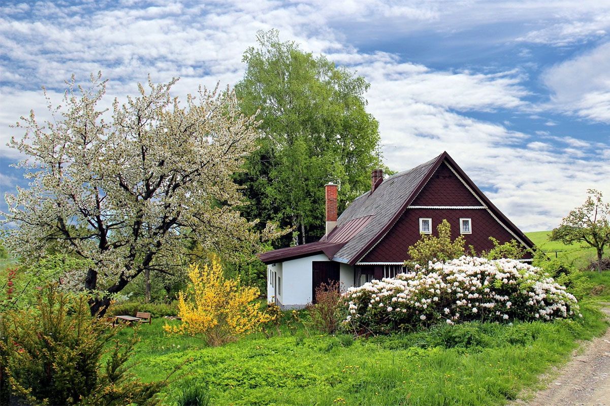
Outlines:
{"type": "Polygon", "coordinates": [[[167,384],[142,383],[128,372],[137,338],[114,340],[120,327],[92,318],[88,297],[51,285],[38,293],[35,309],[6,312],[0,323],[2,404],[10,392],[20,404],[152,405],[167,384]]]}

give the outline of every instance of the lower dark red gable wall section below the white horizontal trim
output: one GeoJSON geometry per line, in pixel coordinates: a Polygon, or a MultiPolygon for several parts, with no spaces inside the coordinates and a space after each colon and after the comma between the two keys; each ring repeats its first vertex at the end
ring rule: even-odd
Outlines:
{"type": "MultiPolygon", "coordinates": [[[[493,248],[489,237],[497,239],[500,243],[515,239],[485,209],[407,208],[386,237],[365,255],[361,262],[402,262],[409,259],[407,254],[409,246],[420,239],[419,218],[432,219],[432,235],[438,235],[436,227],[443,219],[447,219],[451,224],[452,238],[460,235],[459,219],[470,218],[472,234],[463,234],[466,240],[465,248],[472,245],[478,253],[493,248]]],[[[526,255],[525,258],[531,258],[531,255],[526,255]]]]}

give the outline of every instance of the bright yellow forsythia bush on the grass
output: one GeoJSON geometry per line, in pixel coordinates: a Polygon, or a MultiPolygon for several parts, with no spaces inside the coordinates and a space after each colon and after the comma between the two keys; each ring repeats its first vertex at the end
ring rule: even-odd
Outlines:
{"type": "Polygon", "coordinates": [[[254,302],[259,296],[256,287],[240,286],[237,279],[226,279],[216,258],[211,265],[190,265],[191,283],[178,294],[179,326],[163,326],[174,334],[201,337],[213,347],[234,341],[237,336],[260,329],[270,316],[260,312],[254,302]]]}

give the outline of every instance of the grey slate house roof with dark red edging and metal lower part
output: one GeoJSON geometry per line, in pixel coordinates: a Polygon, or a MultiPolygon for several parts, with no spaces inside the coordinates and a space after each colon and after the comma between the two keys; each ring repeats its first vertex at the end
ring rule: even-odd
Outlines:
{"type": "Polygon", "coordinates": [[[529,248],[534,247],[531,240],[487,199],[449,154],[443,152],[422,165],[388,177],[372,193],[367,191],[354,199],[337,219],[337,227],[320,241],[264,252],[259,254],[260,260],[269,264],[323,252],[333,261],[354,265],[384,237],[443,161],[459,173],[468,187],[514,235],[529,248]]]}

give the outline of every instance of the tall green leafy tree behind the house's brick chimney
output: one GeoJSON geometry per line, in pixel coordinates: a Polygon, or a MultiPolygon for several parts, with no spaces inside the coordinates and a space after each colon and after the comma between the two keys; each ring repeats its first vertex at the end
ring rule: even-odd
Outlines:
{"type": "Polygon", "coordinates": [[[257,40],[235,85],[242,111],[260,110],[264,133],[237,176],[251,201],[242,212],[295,227],[293,242],[306,243],[323,234],[325,183],[339,183],[339,211],[370,188],[378,122],[365,110],[363,77],[279,41],[276,30],[258,32],[257,40]]]}

